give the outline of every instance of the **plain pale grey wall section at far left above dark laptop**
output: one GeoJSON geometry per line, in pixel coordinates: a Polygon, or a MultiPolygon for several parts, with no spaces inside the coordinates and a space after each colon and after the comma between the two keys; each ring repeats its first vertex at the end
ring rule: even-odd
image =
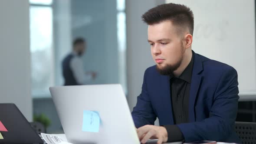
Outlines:
{"type": "Polygon", "coordinates": [[[31,121],[28,0],[0,0],[0,21],[0,103],[15,103],[31,121]]]}

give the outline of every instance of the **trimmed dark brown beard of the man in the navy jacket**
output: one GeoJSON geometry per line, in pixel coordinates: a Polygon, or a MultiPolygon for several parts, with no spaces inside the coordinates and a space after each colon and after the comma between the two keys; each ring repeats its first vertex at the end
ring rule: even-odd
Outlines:
{"type": "Polygon", "coordinates": [[[181,66],[181,62],[182,62],[182,59],[183,59],[184,52],[185,52],[185,48],[184,48],[184,46],[181,45],[181,57],[180,57],[180,59],[178,59],[178,61],[176,63],[174,63],[174,65],[169,65],[169,64],[167,64],[165,66],[157,65],[157,67],[156,67],[157,71],[161,75],[171,75],[171,74],[173,74],[173,72],[181,66]]]}

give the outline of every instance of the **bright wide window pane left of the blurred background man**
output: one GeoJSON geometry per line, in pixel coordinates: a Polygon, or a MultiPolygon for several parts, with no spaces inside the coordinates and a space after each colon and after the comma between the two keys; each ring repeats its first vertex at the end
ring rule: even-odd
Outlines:
{"type": "Polygon", "coordinates": [[[32,95],[49,95],[54,85],[53,10],[51,0],[30,0],[32,95]]]}

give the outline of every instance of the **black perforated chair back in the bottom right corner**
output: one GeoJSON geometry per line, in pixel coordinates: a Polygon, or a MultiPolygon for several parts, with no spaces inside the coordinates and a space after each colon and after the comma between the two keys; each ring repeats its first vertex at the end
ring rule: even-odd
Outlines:
{"type": "Polygon", "coordinates": [[[256,123],[236,121],[235,130],[243,144],[256,144],[256,123]]]}

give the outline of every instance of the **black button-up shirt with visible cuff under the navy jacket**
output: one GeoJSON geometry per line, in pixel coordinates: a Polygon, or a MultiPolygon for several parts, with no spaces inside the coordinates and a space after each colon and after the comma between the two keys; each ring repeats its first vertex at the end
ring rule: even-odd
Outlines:
{"type": "Polygon", "coordinates": [[[189,122],[188,105],[193,63],[194,55],[192,53],[190,63],[181,75],[179,77],[175,77],[173,74],[170,75],[170,95],[174,125],[163,125],[167,130],[168,142],[184,140],[184,136],[176,124],[189,122]]]}

